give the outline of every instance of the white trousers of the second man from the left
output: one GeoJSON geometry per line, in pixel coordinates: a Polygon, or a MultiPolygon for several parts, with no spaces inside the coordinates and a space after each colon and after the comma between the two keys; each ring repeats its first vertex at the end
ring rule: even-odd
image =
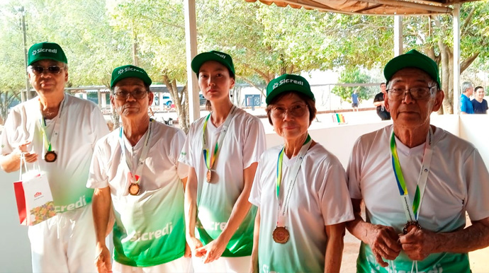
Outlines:
{"type": "Polygon", "coordinates": [[[191,273],[192,263],[190,258],[180,257],[172,262],[165,262],[162,265],[154,265],[152,267],[131,267],[123,265],[116,261],[112,261],[113,273],[191,273]]]}

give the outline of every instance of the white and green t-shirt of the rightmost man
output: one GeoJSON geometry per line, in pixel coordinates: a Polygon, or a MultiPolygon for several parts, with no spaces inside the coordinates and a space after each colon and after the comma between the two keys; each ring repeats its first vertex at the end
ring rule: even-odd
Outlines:
{"type": "MultiPolygon", "coordinates": [[[[367,221],[392,226],[402,233],[408,220],[393,173],[392,130],[393,125],[389,125],[360,136],[354,144],[347,174],[350,196],[364,200],[367,221]]],[[[395,143],[412,204],[425,144],[410,149],[397,138],[395,143]]],[[[488,217],[489,173],[477,149],[441,128],[434,131],[432,143],[432,161],[418,217],[422,228],[437,233],[463,228],[466,211],[473,221],[488,217]]],[[[431,270],[434,261],[442,263],[443,255],[429,255],[418,262],[419,268],[431,270]]],[[[395,260],[398,264],[402,262],[410,268],[410,260],[404,252],[395,260]]]]}

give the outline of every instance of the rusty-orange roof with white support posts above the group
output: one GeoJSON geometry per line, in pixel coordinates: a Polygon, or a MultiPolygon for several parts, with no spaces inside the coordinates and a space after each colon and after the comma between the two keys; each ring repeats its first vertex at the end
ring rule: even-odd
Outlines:
{"type": "MultiPolygon", "coordinates": [[[[189,84],[190,122],[200,117],[198,105],[198,83],[191,70],[191,60],[197,54],[196,0],[184,0],[185,40],[187,59],[187,83],[189,84]]],[[[245,0],[250,3],[291,8],[315,9],[344,14],[371,16],[394,16],[395,55],[402,54],[402,16],[431,16],[448,14],[454,24],[454,113],[459,112],[460,85],[460,6],[469,1],[479,0],[245,0]]]]}

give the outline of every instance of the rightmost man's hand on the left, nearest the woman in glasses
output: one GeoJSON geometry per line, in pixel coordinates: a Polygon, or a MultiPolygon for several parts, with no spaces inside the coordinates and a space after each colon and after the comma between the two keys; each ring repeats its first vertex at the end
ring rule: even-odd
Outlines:
{"type": "Polygon", "coordinates": [[[382,258],[386,260],[394,260],[398,257],[401,246],[398,243],[398,233],[390,226],[371,225],[367,232],[367,243],[372,249],[376,261],[382,267],[388,266],[382,258]]]}

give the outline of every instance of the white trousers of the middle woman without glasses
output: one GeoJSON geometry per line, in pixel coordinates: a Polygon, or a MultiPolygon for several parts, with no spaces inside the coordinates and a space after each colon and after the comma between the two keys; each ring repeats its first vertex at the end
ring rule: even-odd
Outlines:
{"type": "Polygon", "coordinates": [[[245,257],[220,257],[218,260],[204,264],[201,257],[192,257],[193,272],[196,273],[221,273],[221,272],[249,272],[251,256],[245,257]]]}

